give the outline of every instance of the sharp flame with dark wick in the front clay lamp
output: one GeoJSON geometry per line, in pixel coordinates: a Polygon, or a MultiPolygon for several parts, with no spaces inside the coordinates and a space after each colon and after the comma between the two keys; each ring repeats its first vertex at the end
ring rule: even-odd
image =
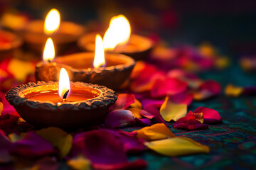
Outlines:
{"type": "Polygon", "coordinates": [[[58,95],[60,96],[60,98],[63,98],[63,96],[66,96],[65,98],[68,98],[67,91],[68,94],[70,94],[70,79],[68,77],[68,72],[64,68],[61,68],[58,84],[58,95]]]}

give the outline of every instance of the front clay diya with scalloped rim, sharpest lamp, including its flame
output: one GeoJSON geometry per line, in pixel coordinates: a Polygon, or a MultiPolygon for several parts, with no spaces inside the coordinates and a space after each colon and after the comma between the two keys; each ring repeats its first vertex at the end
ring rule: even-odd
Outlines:
{"type": "Polygon", "coordinates": [[[6,99],[21,118],[35,127],[70,130],[103,123],[117,96],[105,86],[70,83],[68,73],[62,69],[59,83],[23,84],[8,91],[6,99]]]}

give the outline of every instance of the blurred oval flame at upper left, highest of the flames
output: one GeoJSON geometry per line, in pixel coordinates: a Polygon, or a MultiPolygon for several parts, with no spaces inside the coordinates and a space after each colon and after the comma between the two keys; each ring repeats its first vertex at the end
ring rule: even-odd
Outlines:
{"type": "Polygon", "coordinates": [[[60,27],[60,13],[57,9],[51,9],[44,23],[43,31],[46,35],[52,35],[60,27]]]}

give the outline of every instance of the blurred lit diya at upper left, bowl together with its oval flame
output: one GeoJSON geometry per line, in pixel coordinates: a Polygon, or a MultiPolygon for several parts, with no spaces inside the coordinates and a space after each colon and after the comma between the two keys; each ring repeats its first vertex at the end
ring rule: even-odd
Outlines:
{"type": "Polygon", "coordinates": [[[28,23],[22,35],[27,47],[41,53],[48,37],[53,38],[58,51],[64,51],[70,45],[75,45],[84,31],[85,28],[76,23],[60,22],[60,13],[53,8],[45,21],[36,20],[28,23]]]}

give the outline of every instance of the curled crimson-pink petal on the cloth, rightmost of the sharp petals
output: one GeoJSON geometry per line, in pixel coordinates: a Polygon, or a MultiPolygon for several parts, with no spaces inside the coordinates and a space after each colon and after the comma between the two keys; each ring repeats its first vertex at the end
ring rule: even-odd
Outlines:
{"type": "Polygon", "coordinates": [[[193,113],[203,113],[204,123],[221,123],[222,121],[220,114],[212,108],[198,107],[193,113]]]}

